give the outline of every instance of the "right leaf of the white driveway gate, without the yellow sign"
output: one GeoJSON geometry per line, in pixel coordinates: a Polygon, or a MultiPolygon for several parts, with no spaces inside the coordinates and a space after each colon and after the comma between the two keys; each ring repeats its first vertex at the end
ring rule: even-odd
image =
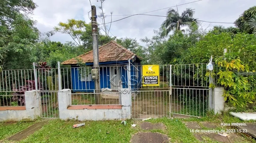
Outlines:
{"type": "Polygon", "coordinates": [[[207,114],[209,77],[207,63],[170,65],[170,112],[202,117],[207,114]]]}

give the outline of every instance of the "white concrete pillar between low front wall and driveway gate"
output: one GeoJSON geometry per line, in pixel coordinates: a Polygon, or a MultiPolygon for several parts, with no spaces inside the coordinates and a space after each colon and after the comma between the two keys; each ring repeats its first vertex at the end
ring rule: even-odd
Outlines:
{"type": "Polygon", "coordinates": [[[132,104],[132,91],[131,89],[121,90],[121,105],[124,113],[124,118],[131,119],[131,104],[132,104]]]}

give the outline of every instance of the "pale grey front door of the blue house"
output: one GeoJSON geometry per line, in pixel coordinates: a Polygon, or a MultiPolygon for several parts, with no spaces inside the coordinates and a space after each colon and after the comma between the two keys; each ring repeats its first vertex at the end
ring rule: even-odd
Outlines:
{"type": "Polygon", "coordinates": [[[111,89],[119,89],[120,84],[119,81],[121,80],[120,76],[120,67],[110,67],[110,83],[111,89]]]}

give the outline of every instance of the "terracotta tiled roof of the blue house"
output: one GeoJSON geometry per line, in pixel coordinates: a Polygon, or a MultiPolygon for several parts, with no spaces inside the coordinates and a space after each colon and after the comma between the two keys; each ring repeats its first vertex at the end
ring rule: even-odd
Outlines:
{"type": "MultiPolygon", "coordinates": [[[[123,46],[117,44],[115,41],[110,41],[109,43],[99,47],[99,62],[125,61],[128,59],[132,59],[132,56],[136,56],[137,58],[142,59],[141,57],[134,54],[132,51],[129,51],[123,46]]],[[[89,51],[85,54],[64,61],[62,62],[62,64],[77,64],[76,58],[81,58],[84,63],[92,63],[93,51],[89,51]]]]}

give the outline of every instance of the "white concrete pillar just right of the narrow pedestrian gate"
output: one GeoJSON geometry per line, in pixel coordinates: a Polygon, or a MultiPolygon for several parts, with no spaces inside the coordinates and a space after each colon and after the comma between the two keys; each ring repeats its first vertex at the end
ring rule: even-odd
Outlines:
{"type": "Polygon", "coordinates": [[[59,118],[67,119],[67,107],[70,105],[70,89],[62,89],[58,91],[58,103],[59,103],[59,118]]]}

